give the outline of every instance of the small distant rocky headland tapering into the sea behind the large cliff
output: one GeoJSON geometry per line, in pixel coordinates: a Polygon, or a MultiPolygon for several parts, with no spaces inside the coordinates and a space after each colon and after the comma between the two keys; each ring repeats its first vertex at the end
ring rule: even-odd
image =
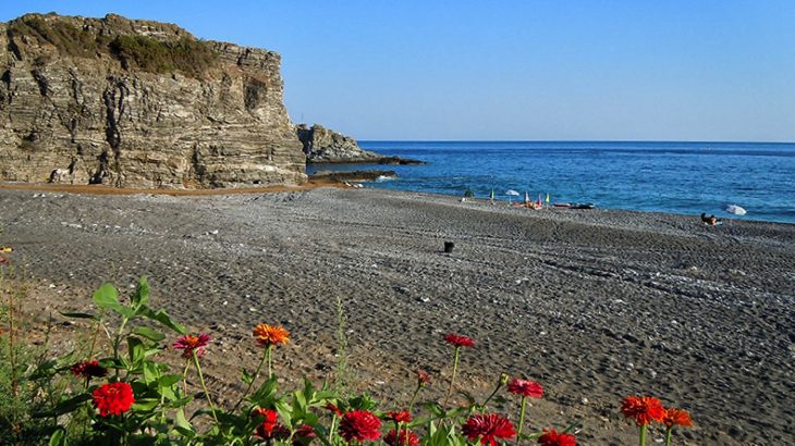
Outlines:
{"type": "Polygon", "coordinates": [[[295,127],[298,139],[304,145],[306,162],[313,164],[425,164],[424,161],[384,157],[364,150],[355,139],[328,129],[320,124],[295,127]]]}

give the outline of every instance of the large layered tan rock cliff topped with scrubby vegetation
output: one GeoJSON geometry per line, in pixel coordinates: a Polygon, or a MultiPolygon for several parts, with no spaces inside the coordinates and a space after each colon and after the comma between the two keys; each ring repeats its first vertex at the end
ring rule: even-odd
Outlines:
{"type": "Polygon", "coordinates": [[[306,175],[278,53],[118,15],[29,14],[0,23],[0,179],[207,188],[306,175]]]}

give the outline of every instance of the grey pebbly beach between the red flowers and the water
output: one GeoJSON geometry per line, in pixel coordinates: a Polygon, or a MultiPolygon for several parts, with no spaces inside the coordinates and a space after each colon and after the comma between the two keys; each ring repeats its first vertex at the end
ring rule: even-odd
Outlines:
{"type": "MultiPolygon", "coordinates": [[[[2,188],[0,209],[0,244],[34,284],[29,313],[90,310],[103,282],[129,293],[146,275],[155,306],[213,336],[205,360],[222,401],[259,359],[257,323],[291,332],[276,358],[285,385],[331,380],[339,301],[351,387],[383,407],[406,404],[417,368],[435,380],[420,399],[443,397],[442,336],[457,333],[477,343],[457,388],[482,399],[502,372],[543,385],[528,431],[579,420],[582,444],[633,444],[621,401],[652,395],[693,414],[674,444],[795,444],[795,225],[331,187],[2,188]]],[[[78,329],[54,314],[56,332],[78,329]]]]}

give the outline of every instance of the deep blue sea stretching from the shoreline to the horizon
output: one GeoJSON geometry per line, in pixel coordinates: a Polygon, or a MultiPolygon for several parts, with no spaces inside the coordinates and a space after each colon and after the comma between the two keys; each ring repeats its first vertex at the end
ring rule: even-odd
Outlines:
{"type": "Polygon", "coordinates": [[[424,165],[309,165],[393,170],[365,187],[500,201],[555,202],[795,223],[795,144],[659,141],[359,141],[424,165]],[[513,190],[519,194],[506,195],[513,190]],[[729,205],[745,215],[725,211],[729,205]]]}

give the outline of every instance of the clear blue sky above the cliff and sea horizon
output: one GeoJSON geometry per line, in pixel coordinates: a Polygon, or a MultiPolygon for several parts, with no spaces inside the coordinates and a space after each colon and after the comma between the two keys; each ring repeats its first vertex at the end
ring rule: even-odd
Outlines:
{"type": "Polygon", "coordinates": [[[357,139],[795,141],[795,1],[7,1],[282,54],[294,122],[357,139]]]}

